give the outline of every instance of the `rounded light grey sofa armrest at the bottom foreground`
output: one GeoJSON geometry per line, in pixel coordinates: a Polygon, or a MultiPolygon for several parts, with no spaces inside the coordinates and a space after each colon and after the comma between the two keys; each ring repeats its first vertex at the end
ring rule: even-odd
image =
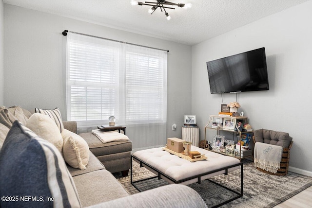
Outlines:
{"type": "Polygon", "coordinates": [[[207,208],[192,188],[171,184],[93,205],[90,208],[207,208]]]}

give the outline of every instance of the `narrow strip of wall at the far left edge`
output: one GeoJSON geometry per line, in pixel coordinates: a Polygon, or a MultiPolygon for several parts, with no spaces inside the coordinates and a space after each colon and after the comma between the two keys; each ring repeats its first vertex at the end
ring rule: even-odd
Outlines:
{"type": "Polygon", "coordinates": [[[0,0],[0,105],[3,105],[3,1],[0,0]]]}

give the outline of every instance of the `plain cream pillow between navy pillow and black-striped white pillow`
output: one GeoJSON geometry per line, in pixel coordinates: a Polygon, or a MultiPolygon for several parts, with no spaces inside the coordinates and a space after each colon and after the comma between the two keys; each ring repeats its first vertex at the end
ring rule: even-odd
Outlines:
{"type": "Polygon", "coordinates": [[[50,141],[59,152],[63,149],[63,138],[58,126],[48,116],[34,113],[27,121],[26,127],[35,132],[40,138],[50,141]]]}

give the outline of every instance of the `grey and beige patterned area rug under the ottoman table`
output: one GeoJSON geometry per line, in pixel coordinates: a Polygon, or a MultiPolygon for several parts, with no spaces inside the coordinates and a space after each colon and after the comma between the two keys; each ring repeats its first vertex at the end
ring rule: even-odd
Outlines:
{"type": "MultiPolygon", "coordinates": [[[[312,185],[312,177],[292,172],[288,172],[285,176],[270,175],[258,171],[252,161],[244,160],[243,162],[244,196],[221,206],[221,208],[272,208],[312,185]]],[[[122,177],[121,174],[114,175],[130,194],[139,192],[130,184],[130,172],[127,177],[122,177]]],[[[133,162],[134,181],[152,176],[155,174],[145,168],[140,168],[137,162],[133,162]]],[[[240,169],[230,172],[228,175],[212,177],[211,180],[240,192],[240,169]]],[[[168,185],[168,183],[154,178],[138,182],[136,185],[142,191],[146,191],[168,185]]],[[[235,196],[233,192],[208,180],[203,180],[201,184],[194,183],[188,186],[199,193],[208,207],[213,207],[235,196]]]]}

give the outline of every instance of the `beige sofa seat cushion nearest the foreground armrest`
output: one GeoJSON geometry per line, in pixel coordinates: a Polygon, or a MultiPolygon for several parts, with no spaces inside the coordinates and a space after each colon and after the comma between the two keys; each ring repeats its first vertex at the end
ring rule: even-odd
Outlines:
{"type": "Polygon", "coordinates": [[[73,179],[83,207],[129,196],[129,193],[107,170],[77,175],[73,179]]]}

